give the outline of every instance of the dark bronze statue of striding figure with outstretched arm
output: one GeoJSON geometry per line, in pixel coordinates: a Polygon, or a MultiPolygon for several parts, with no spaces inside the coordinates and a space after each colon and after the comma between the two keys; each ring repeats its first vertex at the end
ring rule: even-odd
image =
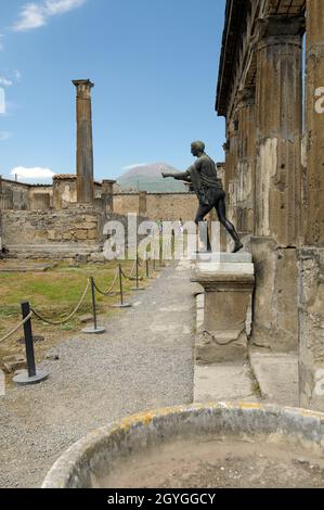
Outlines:
{"type": "MultiPolygon", "coordinates": [[[[215,207],[220,222],[225,227],[226,231],[233,239],[235,245],[232,253],[243,248],[243,244],[231,221],[226,219],[225,192],[222,182],[217,177],[216,164],[205,153],[205,143],[195,141],[191,144],[191,153],[197,157],[197,161],[186,170],[179,174],[163,173],[163,177],[172,177],[173,179],[184,180],[192,184],[198,201],[199,207],[196,214],[195,224],[204,221],[204,218],[215,207]]],[[[207,233],[207,251],[211,251],[209,237],[207,233]]]]}

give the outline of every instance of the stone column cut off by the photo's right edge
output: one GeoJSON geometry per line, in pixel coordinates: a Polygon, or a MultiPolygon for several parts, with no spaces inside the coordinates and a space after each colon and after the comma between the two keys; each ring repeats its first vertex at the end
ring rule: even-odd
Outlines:
{"type": "Polygon", "coordinates": [[[324,10],[307,1],[306,215],[299,259],[300,406],[324,411],[324,10]]]}

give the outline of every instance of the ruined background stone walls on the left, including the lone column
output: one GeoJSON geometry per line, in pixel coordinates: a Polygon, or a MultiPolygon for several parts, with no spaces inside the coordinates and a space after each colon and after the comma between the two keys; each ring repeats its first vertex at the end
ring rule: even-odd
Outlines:
{"type": "Polygon", "coordinates": [[[115,180],[93,176],[90,80],[74,80],[77,173],[55,175],[52,184],[27,184],[0,176],[0,250],[14,258],[102,260],[103,226],[127,215],[142,219],[192,219],[193,193],[121,192],[115,180]]]}

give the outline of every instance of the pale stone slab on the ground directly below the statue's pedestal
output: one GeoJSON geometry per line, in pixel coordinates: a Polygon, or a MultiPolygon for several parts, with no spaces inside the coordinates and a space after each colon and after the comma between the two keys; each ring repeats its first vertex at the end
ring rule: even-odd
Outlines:
{"type": "Polygon", "coordinates": [[[258,401],[248,364],[196,366],[194,401],[258,401]]]}

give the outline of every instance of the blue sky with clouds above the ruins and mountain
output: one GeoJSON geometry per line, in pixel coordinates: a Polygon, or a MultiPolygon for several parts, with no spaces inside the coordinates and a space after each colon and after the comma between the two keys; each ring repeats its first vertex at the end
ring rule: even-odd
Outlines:
{"type": "Polygon", "coordinates": [[[222,161],[224,122],[215,112],[215,95],[224,5],[1,0],[0,175],[9,177],[16,167],[22,174],[75,173],[70,81],[79,78],[95,84],[96,179],[118,177],[139,163],[186,168],[195,139],[222,161]]]}

